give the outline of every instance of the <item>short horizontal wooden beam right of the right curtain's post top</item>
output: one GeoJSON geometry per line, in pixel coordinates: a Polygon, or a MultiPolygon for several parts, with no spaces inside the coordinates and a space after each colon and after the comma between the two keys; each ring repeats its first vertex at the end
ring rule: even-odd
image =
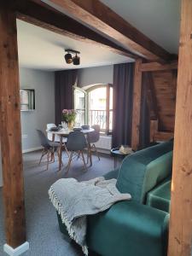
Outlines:
{"type": "Polygon", "coordinates": [[[160,64],[158,62],[148,62],[141,65],[142,72],[177,70],[178,63],[174,61],[169,64],[160,64]]]}

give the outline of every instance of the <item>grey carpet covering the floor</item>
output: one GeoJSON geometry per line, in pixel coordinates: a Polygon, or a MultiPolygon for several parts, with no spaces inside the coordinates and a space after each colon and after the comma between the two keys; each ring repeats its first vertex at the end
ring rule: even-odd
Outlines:
{"type": "MultiPolygon", "coordinates": [[[[24,181],[26,197],[26,236],[30,242],[30,250],[24,253],[25,256],[79,256],[81,249],[73,242],[61,235],[57,224],[55,209],[51,205],[48,196],[48,189],[52,183],[60,177],[74,177],[79,181],[89,180],[93,177],[102,176],[113,170],[113,158],[102,155],[99,161],[93,156],[93,166],[88,172],[83,171],[81,160],[74,160],[68,175],[65,169],[58,171],[58,161],[49,166],[43,163],[38,166],[40,152],[24,154],[24,181]]],[[[64,165],[67,158],[63,156],[64,165]]],[[[5,243],[3,232],[3,201],[2,189],[0,189],[0,255],[3,253],[5,243]]],[[[90,253],[94,255],[94,253],[90,253]]]]}

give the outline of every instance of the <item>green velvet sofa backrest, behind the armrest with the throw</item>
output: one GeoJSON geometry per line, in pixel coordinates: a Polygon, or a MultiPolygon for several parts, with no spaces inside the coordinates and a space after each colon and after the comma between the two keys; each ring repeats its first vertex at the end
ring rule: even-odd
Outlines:
{"type": "Polygon", "coordinates": [[[171,140],[127,156],[119,169],[119,191],[130,193],[133,201],[145,203],[148,191],[172,175],[172,148],[171,140]]]}

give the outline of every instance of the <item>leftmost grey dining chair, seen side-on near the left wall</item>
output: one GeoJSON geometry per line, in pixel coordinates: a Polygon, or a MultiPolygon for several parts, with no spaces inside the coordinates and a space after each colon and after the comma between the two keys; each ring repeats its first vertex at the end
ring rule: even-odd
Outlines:
{"type": "Polygon", "coordinates": [[[49,162],[55,161],[55,151],[58,150],[60,145],[59,145],[59,143],[50,142],[48,140],[48,138],[44,135],[43,131],[37,130],[37,132],[38,132],[38,137],[41,142],[41,146],[44,148],[43,152],[41,154],[41,158],[38,162],[38,165],[40,165],[44,155],[47,154],[47,169],[46,170],[48,170],[49,162]],[[49,160],[49,157],[50,157],[50,160],[49,160]]]}

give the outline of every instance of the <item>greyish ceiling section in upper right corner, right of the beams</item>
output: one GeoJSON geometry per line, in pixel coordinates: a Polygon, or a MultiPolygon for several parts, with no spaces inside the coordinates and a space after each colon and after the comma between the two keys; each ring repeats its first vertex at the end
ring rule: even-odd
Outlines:
{"type": "Polygon", "coordinates": [[[170,53],[177,54],[180,0],[100,0],[170,53]]]}

